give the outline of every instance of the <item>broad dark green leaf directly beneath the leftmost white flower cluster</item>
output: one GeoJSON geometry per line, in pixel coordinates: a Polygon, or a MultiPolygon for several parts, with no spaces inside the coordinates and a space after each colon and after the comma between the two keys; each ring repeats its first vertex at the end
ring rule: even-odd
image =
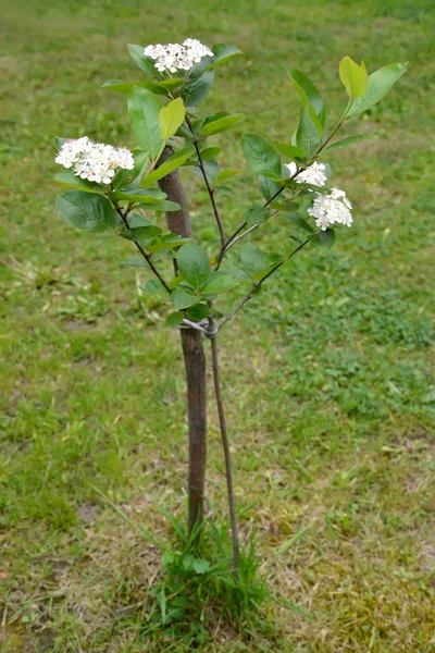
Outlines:
{"type": "Polygon", "coordinates": [[[55,209],[66,222],[94,234],[114,231],[121,218],[101,195],[67,190],[55,198],[55,209]]]}

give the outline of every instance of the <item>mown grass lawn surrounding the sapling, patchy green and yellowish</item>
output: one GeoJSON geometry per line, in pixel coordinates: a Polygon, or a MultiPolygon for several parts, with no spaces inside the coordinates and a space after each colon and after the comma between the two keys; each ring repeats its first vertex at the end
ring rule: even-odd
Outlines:
{"type": "MultiPolygon", "coordinates": [[[[124,98],[100,89],[139,78],[125,45],[186,36],[245,51],[208,108],[245,111],[244,130],[282,141],[297,108],[285,64],[328,89],[338,116],[341,56],[370,70],[410,61],[380,109],[349,126],[380,139],[331,157],[355,227],[331,252],[298,255],[221,342],[236,496],[257,502],[240,515],[243,539],[258,531],[274,594],[315,618],[276,606],[273,632],[216,620],[201,650],[435,651],[431,19],[428,0],[3,2],[2,651],[189,650],[138,629],[160,557],[91,488],[159,538],[170,527],[154,502],[183,520],[178,337],[162,324],[160,299],[139,297],[135,272],[120,267],[125,243],[86,237],[54,215],[51,181],[54,135],[133,146],[124,98]]],[[[235,135],[216,138],[228,168],[243,167],[235,135]]],[[[253,185],[244,190],[250,178],[244,172],[236,197],[221,198],[226,224],[257,197],[253,185]]],[[[185,181],[212,252],[206,194],[185,181]]],[[[287,232],[271,225],[270,249],[287,232]]],[[[224,513],[214,408],[208,491],[224,513]]]]}

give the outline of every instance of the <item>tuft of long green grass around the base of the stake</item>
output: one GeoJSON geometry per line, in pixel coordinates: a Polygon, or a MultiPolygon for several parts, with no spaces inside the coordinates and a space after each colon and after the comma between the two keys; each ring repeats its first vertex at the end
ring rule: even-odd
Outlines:
{"type": "MultiPolygon", "coordinates": [[[[167,545],[157,541],[140,520],[134,521],[101,491],[94,490],[146,541],[151,541],[162,552],[161,569],[149,590],[151,605],[148,611],[141,612],[137,625],[139,640],[144,643],[154,641],[156,636],[160,638],[164,632],[164,637],[173,642],[198,648],[211,641],[213,628],[220,623],[225,623],[248,640],[254,632],[272,633],[275,626],[268,614],[273,603],[310,618],[293,603],[273,596],[268,572],[261,569],[257,537],[252,533],[240,550],[236,577],[229,526],[216,516],[214,509],[202,527],[194,529],[188,537],[184,522],[160,508],[171,526],[173,543],[167,545]]],[[[284,543],[275,557],[287,552],[307,530],[284,543]]]]}

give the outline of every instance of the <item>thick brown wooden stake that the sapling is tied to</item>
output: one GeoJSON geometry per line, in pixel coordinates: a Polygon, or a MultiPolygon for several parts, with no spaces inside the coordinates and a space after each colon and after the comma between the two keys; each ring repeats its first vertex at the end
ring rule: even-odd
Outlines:
{"type": "MultiPolygon", "coordinates": [[[[173,153],[166,147],[159,163],[162,164],[173,153]]],[[[191,224],[186,194],[178,170],[159,181],[159,186],[167,199],[182,207],[179,211],[166,213],[167,227],[183,237],[191,236],[191,224]]],[[[188,532],[202,523],[206,485],[207,456],[207,396],[206,355],[202,335],[196,329],[182,329],[182,346],[187,383],[187,422],[189,438],[188,465],[188,532]]],[[[199,537],[198,531],[198,537],[199,537]]]]}

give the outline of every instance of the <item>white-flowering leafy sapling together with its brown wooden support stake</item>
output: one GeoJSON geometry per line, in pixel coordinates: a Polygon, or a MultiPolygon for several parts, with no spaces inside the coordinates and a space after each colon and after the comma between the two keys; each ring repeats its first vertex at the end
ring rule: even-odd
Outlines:
{"type": "Polygon", "coordinates": [[[344,190],[328,187],[330,165],[319,158],[375,138],[357,135],[337,140],[336,134],[346,121],[382,100],[407,64],[389,64],[368,75],[363,62],[359,65],[349,57],[341,59],[338,72],[348,101],[336,123],[327,120],[326,104],[314,84],[299,70],[287,69],[288,81],[301,102],[296,130],[288,135],[287,143],[257,134],[243,135],[241,148],[248,167],[258,176],[259,196],[263,199],[240,209],[239,224],[228,233],[220,200],[232,193],[227,184],[239,171],[221,169],[217,163],[221,148],[210,141],[235,127],[239,132],[245,115],[199,113],[198,107],[212,88],[215,70],[241,52],[223,44],[209,49],[196,39],[146,48],[128,46],[128,49],[145,79],[111,79],[103,87],[127,96],[137,147],[130,151],[96,144],[86,136],[57,138],[55,161],[65,171],[54,178],[70,186],[58,196],[57,211],[77,229],[94,234],[111,233],[133,243],[140,258],[125,264],[144,268],[149,279],[141,289],[165,297],[171,307],[166,324],[181,331],[187,382],[189,533],[200,533],[203,519],[207,448],[203,340],[211,342],[237,577],[239,546],[217,336],[289,259],[306,247],[331,248],[335,227],[351,226],[351,202],[344,190]],[[196,243],[179,175],[182,167],[192,170],[206,185],[219,243],[214,251],[209,252],[196,243]],[[162,213],[166,215],[167,229],[159,221],[162,213]],[[268,222],[275,215],[287,221],[287,234],[277,244],[277,251],[266,252],[257,243],[261,244],[262,236],[265,239],[268,222]],[[239,298],[223,315],[220,300],[228,292],[232,297],[239,294],[239,298]]]}

